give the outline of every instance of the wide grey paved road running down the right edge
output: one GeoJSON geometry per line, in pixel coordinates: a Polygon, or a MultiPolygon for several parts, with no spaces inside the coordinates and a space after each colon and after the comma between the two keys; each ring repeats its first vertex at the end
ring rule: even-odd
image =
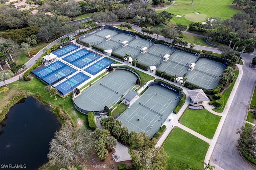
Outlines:
{"type": "Polygon", "coordinates": [[[242,57],[244,60],[243,77],[210,159],[211,162],[225,170],[255,170],[240,156],[236,148],[238,139],[236,131],[244,126],[256,84],[256,70],[249,68],[255,55],[243,54],[242,57]]]}

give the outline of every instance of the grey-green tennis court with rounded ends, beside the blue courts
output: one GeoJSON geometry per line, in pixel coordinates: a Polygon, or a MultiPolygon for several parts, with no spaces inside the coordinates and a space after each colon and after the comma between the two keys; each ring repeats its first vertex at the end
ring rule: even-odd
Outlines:
{"type": "Polygon", "coordinates": [[[86,111],[102,111],[136,86],[136,80],[137,77],[129,71],[115,70],[83,91],[74,99],[74,103],[86,111]]]}

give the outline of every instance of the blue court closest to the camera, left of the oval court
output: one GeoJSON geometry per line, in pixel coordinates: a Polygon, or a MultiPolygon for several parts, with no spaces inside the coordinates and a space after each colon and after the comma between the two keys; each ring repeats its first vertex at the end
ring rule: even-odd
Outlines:
{"type": "Polygon", "coordinates": [[[85,75],[81,72],[77,73],[73,77],[66,79],[63,83],[60,83],[55,88],[58,89],[58,92],[65,96],[70,91],[74,90],[78,85],[84,83],[86,80],[90,79],[88,75],[85,75]]]}

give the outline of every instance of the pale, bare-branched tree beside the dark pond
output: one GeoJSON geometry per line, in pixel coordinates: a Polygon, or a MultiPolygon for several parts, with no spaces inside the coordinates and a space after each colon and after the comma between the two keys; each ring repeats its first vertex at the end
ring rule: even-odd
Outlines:
{"type": "Polygon", "coordinates": [[[74,129],[71,125],[66,125],[55,133],[47,157],[50,164],[58,167],[81,164],[88,160],[93,142],[94,139],[87,128],[74,129]]]}

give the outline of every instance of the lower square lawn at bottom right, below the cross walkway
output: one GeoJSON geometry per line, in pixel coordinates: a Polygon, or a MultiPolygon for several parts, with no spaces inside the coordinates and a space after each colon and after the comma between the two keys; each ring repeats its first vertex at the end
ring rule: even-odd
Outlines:
{"type": "Polygon", "coordinates": [[[167,164],[186,163],[203,169],[209,144],[181,128],[176,128],[163,147],[169,156],[167,164]]]}

